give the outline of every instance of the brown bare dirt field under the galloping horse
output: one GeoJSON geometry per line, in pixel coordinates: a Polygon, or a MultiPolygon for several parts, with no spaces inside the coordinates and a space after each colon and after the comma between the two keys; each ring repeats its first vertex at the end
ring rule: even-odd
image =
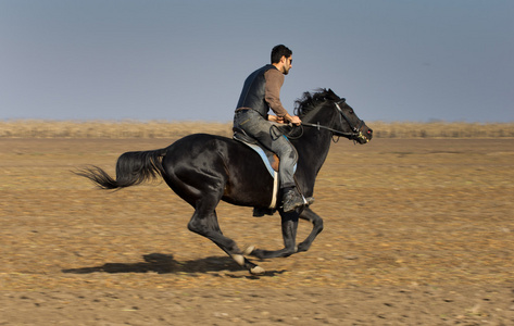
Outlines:
{"type": "MultiPolygon", "coordinates": [[[[0,139],[0,325],[514,325],[514,140],[341,139],[314,193],[324,231],[264,276],[188,231],[165,184],[71,173],[171,142],[0,139]]],[[[240,247],[281,248],[278,215],[218,216],[240,247]]]]}

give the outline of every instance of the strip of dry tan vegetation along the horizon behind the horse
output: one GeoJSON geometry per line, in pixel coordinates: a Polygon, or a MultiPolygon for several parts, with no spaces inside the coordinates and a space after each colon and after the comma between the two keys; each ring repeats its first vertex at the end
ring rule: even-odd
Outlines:
{"type": "MultiPolygon", "coordinates": [[[[514,123],[372,122],[376,138],[512,138],[514,123]]],[[[138,121],[0,121],[0,138],[177,138],[231,135],[231,123],[138,121]]]]}

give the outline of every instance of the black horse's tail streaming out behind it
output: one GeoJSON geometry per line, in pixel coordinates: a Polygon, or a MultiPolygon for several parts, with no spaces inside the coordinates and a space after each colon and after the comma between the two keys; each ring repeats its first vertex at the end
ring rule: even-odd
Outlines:
{"type": "Polygon", "coordinates": [[[165,153],[166,149],[159,149],[122,154],[116,162],[115,179],[95,165],[74,173],[92,180],[102,189],[121,189],[162,176],[164,173],[162,158],[165,153]]]}

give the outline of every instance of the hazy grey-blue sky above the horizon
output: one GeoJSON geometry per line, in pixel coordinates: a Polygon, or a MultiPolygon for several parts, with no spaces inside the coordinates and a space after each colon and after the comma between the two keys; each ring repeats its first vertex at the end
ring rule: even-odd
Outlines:
{"type": "Polygon", "coordinates": [[[512,0],[0,0],[0,120],[229,122],[285,43],[281,89],[366,121],[514,121],[512,0]]]}

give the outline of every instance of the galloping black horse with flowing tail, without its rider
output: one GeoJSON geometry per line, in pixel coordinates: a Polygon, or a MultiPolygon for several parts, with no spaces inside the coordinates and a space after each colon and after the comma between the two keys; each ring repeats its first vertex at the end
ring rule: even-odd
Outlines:
{"type": "MultiPolygon", "coordinates": [[[[361,121],[344,99],[330,89],[305,92],[297,100],[297,114],[302,120],[301,135],[290,141],[298,150],[296,178],[305,197],[312,197],[314,183],[328,154],[330,140],[346,137],[359,143],[372,139],[373,130],[361,121]]],[[[151,151],[126,152],[116,164],[116,179],[97,166],[76,172],[103,189],[118,189],[162,177],[193,209],[189,230],[211,239],[239,265],[252,274],[264,269],[245,255],[260,259],[288,256],[306,251],[323,229],[323,220],[311,208],[281,216],[284,249],[268,251],[253,247],[241,251],[236,242],[223,235],[216,215],[221,200],[253,208],[267,208],[272,201],[273,178],[249,147],[216,135],[193,134],[170,147],[151,151]],[[296,244],[299,218],[313,224],[305,240],[296,244]]]]}

